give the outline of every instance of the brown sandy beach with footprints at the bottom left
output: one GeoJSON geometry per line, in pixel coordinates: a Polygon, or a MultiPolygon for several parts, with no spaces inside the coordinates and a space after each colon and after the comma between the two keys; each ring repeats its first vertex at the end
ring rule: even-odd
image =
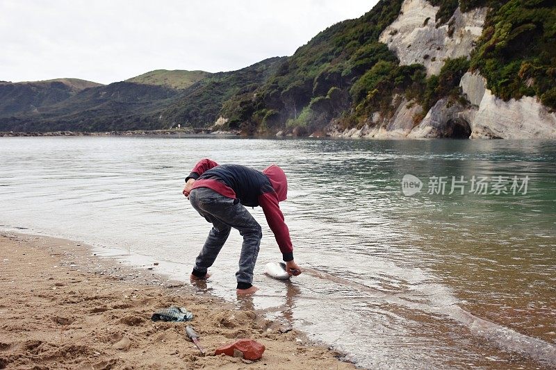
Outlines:
{"type": "Polygon", "coordinates": [[[354,369],[248,299],[238,308],[65,239],[0,235],[0,289],[0,369],[354,369]],[[150,320],[170,305],[193,312],[205,356],[185,323],[150,320]],[[239,338],[264,344],[263,358],[214,355],[239,338]]]}

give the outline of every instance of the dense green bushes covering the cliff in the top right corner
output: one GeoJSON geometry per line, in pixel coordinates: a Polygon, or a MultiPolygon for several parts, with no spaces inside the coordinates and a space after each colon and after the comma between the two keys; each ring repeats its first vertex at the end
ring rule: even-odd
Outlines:
{"type": "Polygon", "coordinates": [[[508,100],[537,95],[556,108],[556,4],[510,0],[486,18],[471,67],[479,69],[496,96],[508,100]]]}

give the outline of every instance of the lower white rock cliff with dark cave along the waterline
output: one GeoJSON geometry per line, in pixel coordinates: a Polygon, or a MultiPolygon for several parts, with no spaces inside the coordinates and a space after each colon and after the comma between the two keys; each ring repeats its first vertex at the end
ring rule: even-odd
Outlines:
{"type": "Polygon", "coordinates": [[[471,139],[556,138],[556,112],[551,112],[534,96],[503,101],[486,88],[486,81],[478,73],[467,72],[461,78],[461,91],[468,106],[448,99],[440,99],[416,126],[413,117],[421,112],[414,101],[395,96],[392,117],[378,113],[362,128],[333,129],[336,137],[375,139],[469,137],[471,139]]]}

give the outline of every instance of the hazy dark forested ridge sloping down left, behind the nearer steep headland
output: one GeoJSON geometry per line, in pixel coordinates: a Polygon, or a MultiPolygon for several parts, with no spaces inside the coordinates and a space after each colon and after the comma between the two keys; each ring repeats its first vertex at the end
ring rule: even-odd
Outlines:
{"type": "Polygon", "coordinates": [[[0,116],[0,131],[114,131],[211,126],[222,103],[264,83],[281,58],[233,72],[209,74],[182,90],[165,85],[111,83],[83,90],[48,106],[0,116]]]}

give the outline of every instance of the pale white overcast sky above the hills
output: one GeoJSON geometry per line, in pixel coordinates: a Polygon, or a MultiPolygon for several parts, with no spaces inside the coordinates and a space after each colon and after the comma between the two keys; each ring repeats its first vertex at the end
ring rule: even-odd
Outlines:
{"type": "Polygon", "coordinates": [[[112,83],[289,56],[377,0],[0,0],[0,80],[112,83]]]}

